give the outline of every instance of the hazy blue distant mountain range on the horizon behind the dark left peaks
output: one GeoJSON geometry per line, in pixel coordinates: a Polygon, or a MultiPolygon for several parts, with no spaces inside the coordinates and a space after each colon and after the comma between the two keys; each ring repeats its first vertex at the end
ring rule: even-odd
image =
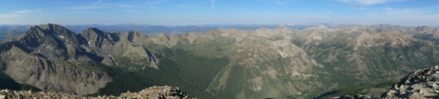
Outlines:
{"type": "MultiPolygon", "coordinates": [[[[283,26],[292,29],[305,29],[307,27],[315,27],[319,25],[327,25],[327,23],[312,23],[312,24],[285,24],[283,26]]],[[[17,34],[25,33],[27,29],[34,25],[0,25],[0,41],[3,41],[8,36],[15,36],[17,34]]],[[[39,25],[42,26],[42,25],[39,25]]],[[[147,35],[156,35],[157,33],[188,33],[198,31],[208,31],[211,29],[239,29],[239,30],[255,30],[259,28],[274,29],[280,25],[235,25],[235,24],[218,24],[218,25],[186,25],[186,26],[164,26],[164,25],[137,25],[137,24],[117,24],[117,25],[61,25],[70,29],[74,33],[80,33],[82,30],[89,27],[102,29],[110,32],[124,32],[124,31],[139,31],[147,35]]]]}

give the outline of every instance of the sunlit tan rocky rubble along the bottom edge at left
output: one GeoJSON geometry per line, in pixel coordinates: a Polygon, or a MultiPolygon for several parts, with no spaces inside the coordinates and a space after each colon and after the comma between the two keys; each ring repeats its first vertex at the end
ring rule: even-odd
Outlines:
{"type": "Polygon", "coordinates": [[[178,87],[169,86],[154,86],[147,89],[143,89],[139,92],[126,92],[122,93],[120,96],[76,96],[73,94],[63,94],[54,92],[32,92],[32,91],[12,91],[8,89],[0,90],[0,99],[9,98],[90,98],[90,99],[119,99],[119,98],[189,98],[185,93],[180,91],[178,87]]]}

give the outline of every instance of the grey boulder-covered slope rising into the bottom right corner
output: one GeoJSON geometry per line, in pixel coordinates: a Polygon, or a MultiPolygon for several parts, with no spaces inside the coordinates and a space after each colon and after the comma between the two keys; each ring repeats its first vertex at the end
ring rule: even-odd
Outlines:
{"type": "Polygon", "coordinates": [[[437,99],[439,98],[439,66],[416,70],[405,76],[397,84],[381,95],[376,96],[340,96],[339,99],[437,99]]]}

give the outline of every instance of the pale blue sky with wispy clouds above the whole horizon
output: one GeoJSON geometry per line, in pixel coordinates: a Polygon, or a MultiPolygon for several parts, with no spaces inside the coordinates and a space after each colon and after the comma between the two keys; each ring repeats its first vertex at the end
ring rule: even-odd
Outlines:
{"type": "Polygon", "coordinates": [[[0,24],[439,26],[438,0],[2,0],[0,24]]]}

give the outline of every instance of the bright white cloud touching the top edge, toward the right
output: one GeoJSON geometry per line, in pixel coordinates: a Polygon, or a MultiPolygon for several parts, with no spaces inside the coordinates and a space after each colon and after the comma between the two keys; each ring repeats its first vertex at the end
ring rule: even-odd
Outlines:
{"type": "Polygon", "coordinates": [[[358,5],[375,5],[379,3],[389,3],[394,1],[412,1],[412,0],[337,0],[342,3],[356,3],[358,5]]]}

